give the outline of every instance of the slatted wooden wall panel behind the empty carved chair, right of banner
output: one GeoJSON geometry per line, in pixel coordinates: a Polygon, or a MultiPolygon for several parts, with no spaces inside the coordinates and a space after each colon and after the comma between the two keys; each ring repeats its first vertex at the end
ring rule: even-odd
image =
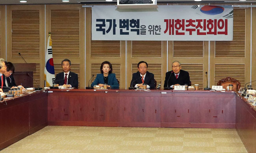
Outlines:
{"type": "Polygon", "coordinates": [[[234,8],[232,41],[211,42],[210,87],[227,76],[250,82],[250,9],[234,8]],[[246,29],[246,30],[245,30],[246,29]],[[214,46],[215,45],[215,46],[214,46]]]}

